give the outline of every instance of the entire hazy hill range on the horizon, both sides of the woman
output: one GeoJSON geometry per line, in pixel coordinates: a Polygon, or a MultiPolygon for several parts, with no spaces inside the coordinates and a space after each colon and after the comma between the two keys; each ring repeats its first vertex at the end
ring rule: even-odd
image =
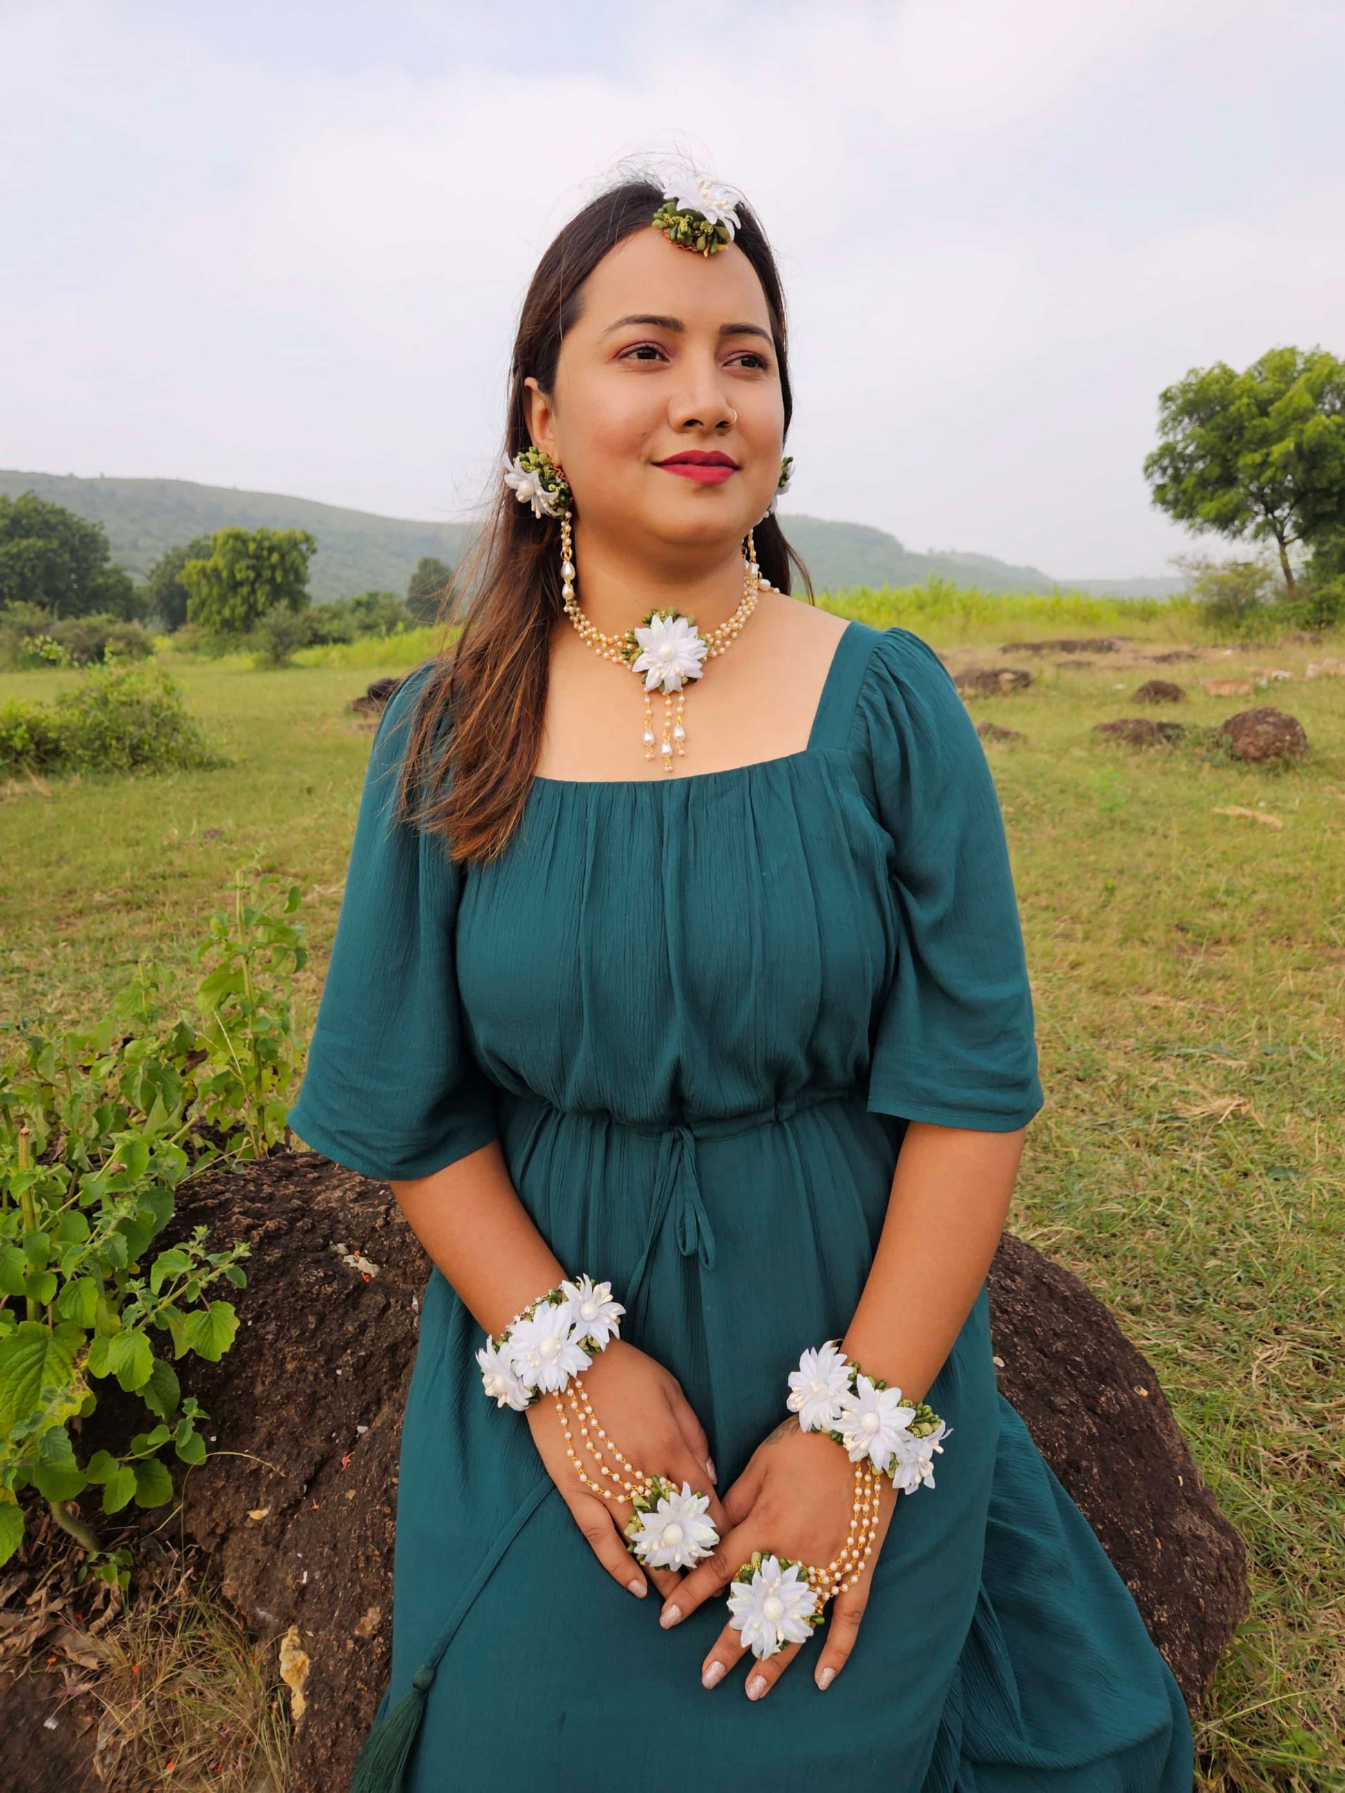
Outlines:
{"type": "MultiPolygon", "coordinates": [[[[113,559],[143,577],[165,549],[215,529],[308,529],[317,540],[310,590],[323,602],[353,592],[404,592],[416,561],[436,554],[452,567],[470,538],[466,524],[425,524],[371,511],[346,511],[314,498],[287,498],[233,486],[195,486],[185,479],[77,479],[74,473],[0,470],[0,493],[63,504],[104,524],[113,559]]],[[[855,585],[922,585],[950,579],[985,592],[1094,592],[1167,597],[1176,579],[1053,579],[1038,567],[1013,567],[990,554],[915,554],[897,536],[866,524],[832,524],[782,513],[820,592],[855,585]]]]}

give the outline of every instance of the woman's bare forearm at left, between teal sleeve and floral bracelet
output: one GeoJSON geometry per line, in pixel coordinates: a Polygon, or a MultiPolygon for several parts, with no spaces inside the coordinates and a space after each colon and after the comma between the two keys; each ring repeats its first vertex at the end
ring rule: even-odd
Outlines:
{"type": "Polygon", "coordinates": [[[585,1266],[561,1264],[518,1200],[499,1140],[411,1183],[396,1205],[472,1316],[499,1332],[585,1266]]]}

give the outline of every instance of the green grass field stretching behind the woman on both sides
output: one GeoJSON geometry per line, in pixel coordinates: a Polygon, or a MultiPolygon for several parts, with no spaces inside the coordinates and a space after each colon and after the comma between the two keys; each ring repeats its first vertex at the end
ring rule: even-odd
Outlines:
{"type": "MultiPolygon", "coordinates": [[[[1083,599],[836,608],[918,628],[959,662],[1037,635],[1124,628],[1141,653],[1191,635],[1182,610],[1083,599]]],[[[258,855],[307,896],[307,1022],[369,746],[344,705],[421,651],[405,640],[371,663],[360,644],[280,672],[169,662],[231,767],[11,787],[0,1011],[90,1018],[140,956],[185,966],[233,868],[258,855]]],[[[1254,1556],[1254,1612],[1200,1734],[1219,1793],[1345,1788],[1345,680],[1306,680],[1315,653],[1345,645],[1173,667],[1024,660],[1031,690],[972,705],[1024,735],[990,748],[1047,1090],[1013,1225],[1153,1359],[1254,1556]],[[1270,667],[1293,678],[1241,699],[1196,690],[1270,667]],[[1193,737],[1148,753],[1098,742],[1094,723],[1144,714],[1132,692],[1153,674],[1193,690],[1158,712],[1193,737]],[[1221,757],[1205,732],[1252,703],[1298,715],[1311,758],[1221,757]]],[[[0,676],[0,701],[68,676],[0,676]]]]}

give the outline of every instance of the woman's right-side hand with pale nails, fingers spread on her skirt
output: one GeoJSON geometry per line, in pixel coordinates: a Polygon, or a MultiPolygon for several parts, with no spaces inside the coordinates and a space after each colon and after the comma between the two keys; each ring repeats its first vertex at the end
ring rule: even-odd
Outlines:
{"type": "MultiPolygon", "coordinates": [[[[789,1418],[757,1445],[751,1461],[725,1495],[732,1531],[719,1533],[719,1549],[690,1571],[665,1598],[660,1624],[685,1619],[707,1599],[721,1594],[753,1551],[787,1556],[811,1569],[825,1569],[843,1549],[854,1511],[855,1470],[841,1447],[821,1433],[800,1431],[789,1418]]],[[[812,1678],[830,1687],[845,1667],[859,1635],[859,1621],[868,1605],[873,1567],[888,1535],[897,1495],[891,1483],[879,1477],[881,1511],[873,1555],[857,1585],[837,1594],[827,1607],[827,1635],[812,1678]]],[[[753,1659],[746,1693],[760,1700],[778,1682],[803,1644],[791,1644],[764,1662],[753,1659]]],[[[714,1687],[737,1667],[748,1651],[739,1633],[726,1624],[714,1650],[701,1664],[701,1682],[714,1687]]]]}

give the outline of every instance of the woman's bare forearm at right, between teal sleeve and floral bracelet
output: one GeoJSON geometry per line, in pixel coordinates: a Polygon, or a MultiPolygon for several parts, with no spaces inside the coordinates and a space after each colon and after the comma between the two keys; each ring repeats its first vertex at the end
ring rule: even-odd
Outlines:
{"type": "Polygon", "coordinates": [[[943,1368],[990,1269],[1022,1137],[1022,1130],[974,1133],[924,1121],[906,1130],[845,1352],[913,1400],[943,1368]]]}

